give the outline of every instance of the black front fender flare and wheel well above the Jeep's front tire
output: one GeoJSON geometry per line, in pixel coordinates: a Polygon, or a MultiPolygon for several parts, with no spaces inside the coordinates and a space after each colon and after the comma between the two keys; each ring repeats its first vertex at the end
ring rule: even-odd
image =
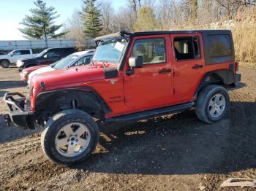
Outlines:
{"type": "Polygon", "coordinates": [[[105,120],[105,114],[111,111],[104,99],[91,87],[69,87],[52,90],[37,95],[35,108],[38,120],[45,120],[64,109],[75,109],[87,112],[91,117],[105,120]]]}

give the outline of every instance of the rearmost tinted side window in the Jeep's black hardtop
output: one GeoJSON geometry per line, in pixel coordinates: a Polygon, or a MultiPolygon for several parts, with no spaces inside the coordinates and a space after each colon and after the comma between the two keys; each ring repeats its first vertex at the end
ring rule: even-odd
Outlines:
{"type": "Polygon", "coordinates": [[[211,58],[232,55],[230,36],[227,34],[208,35],[208,54],[211,58]]]}

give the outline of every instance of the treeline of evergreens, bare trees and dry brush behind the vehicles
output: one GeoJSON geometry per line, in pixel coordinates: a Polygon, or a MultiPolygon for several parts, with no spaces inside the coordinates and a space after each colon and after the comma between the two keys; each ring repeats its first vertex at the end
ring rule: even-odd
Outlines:
{"type": "Polygon", "coordinates": [[[81,0],[63,26],[53,24],[59,17],[53,7],[36,0],[20,31],[29,39],[76,39],[83,50],[85,39],[117,31],[227,28],[233,31],[236,59],[256,62],[256,0],[126,0],[119,9],[111,2],[81,0]]]}

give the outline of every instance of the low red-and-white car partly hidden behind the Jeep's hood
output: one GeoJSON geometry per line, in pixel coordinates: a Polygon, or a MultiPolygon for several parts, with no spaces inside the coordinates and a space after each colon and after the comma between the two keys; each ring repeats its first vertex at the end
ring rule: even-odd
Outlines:
{"type": "MultiPolygon", "coordinates": [[[[30,81],[30,79],[37,74],[42,74],[47,71],[53,71],[56,69],[67,69],[72,66],[87,65],[91,62],[91,58],[94,55],[94,50],[86,50],[82,52],[75,52],[62,58],[49,66],[33,66],[20,71],[20,78],[24,81],[30,81]]],[[[29,84],[29,82],[28,82],[29,84]]]]}

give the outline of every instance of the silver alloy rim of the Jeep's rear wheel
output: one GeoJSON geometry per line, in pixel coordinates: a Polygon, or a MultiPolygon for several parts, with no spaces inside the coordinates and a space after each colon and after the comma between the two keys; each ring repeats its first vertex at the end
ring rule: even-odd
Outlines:
{"type": "Polygon", "coordinates": [[[214,94],[208,104],[208,112],[211,117],[219,117],[223,114],[226,108],[226,99],[222,93],[214,94]]]}

